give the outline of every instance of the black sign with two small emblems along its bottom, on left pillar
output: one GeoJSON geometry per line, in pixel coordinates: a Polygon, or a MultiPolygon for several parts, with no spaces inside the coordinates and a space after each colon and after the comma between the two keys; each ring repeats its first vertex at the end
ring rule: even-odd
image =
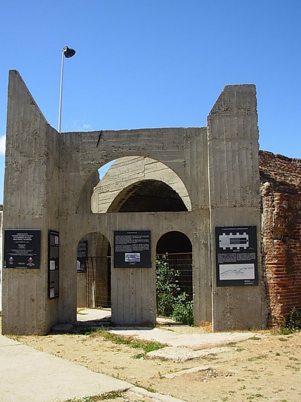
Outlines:
{"type": "Polygon", "coordinates": [[[41,229],[5,229],[4,268],[40,268],[41,229]]]}

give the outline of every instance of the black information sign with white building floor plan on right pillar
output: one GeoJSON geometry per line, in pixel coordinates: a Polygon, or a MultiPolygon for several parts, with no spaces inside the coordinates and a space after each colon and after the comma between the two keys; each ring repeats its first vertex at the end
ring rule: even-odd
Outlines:
{"type": "Polygon", "coordinates": [[[216,227],[217,286],[258,285],[256,226],[216,227]]]}

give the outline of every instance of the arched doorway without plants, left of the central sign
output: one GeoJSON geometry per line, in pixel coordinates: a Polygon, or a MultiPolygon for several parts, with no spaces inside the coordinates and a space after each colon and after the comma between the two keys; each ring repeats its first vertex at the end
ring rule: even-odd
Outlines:
{"type": "Polygon", "coordinates": [[[101,233],[88,233],[78,243],[77,307],[111,308],[111,245],[101,233]]]}

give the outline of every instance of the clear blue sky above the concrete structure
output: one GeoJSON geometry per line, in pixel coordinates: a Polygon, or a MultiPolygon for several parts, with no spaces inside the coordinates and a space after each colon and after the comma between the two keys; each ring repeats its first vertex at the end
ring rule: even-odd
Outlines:
{"type": "MultiPolygon", "coordinates": [[[[260,149],[301,158],[301,2],[4,1],[0,137],[8,72],[17,69],[62,131],[206,126],[227,84],[257,87],[260,149]]],[[[1,142],[0,142],[1,143],[1,142]]],[[[0,203],[4,155],[0,155],[0,203]]]]}

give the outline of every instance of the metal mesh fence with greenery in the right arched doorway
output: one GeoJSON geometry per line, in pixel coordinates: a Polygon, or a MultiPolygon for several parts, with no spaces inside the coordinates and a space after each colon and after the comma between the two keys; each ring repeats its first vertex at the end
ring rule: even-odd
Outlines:
{"type": "Polygon", "coordinates": [[[171,317],[174,304],[181,298],[186,302],[193,300],[192,253],[158,254],[156,276],[159,316],[171,317]],[[158,260],[167,264],[163,274],[158,260]],[[162,279],[169,283],[162,286],[162,279]]]}

